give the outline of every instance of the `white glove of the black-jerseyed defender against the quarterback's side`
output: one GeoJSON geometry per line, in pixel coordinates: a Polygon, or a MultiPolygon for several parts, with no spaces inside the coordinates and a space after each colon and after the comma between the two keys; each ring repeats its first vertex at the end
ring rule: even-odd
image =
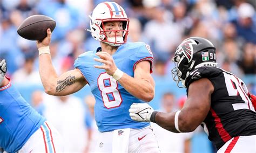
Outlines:
{"type": "Polygon", "coordinates": [[[129,109],[132,120],[150,122],[154,109],[147,103],[133,103],[129,109]]]}

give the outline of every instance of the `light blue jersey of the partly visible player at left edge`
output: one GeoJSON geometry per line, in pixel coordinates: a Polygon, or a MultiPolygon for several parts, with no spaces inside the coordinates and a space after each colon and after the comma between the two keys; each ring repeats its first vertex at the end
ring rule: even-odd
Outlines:
{"type": "Polygon", "coordinates": [[[0,147],[16,152],[45,122],[11,82],[0,88],[0,147]]]}

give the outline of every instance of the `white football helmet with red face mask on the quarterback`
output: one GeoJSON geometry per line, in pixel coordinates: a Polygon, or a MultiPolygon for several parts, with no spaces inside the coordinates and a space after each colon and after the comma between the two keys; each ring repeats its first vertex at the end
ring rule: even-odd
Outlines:
{"type": "Polygon", "coordinates": [[[126,43],[129,31],[129,19],[122,6],[118,5],[116,2],[99,3],[89,17],[91,19],[91,30],[88,31],[91,32],[93,38],[111,46],[120,46],[126,43]],[[103,23],[110,21],[122,21],[123,30],[105,30],[103,23]],[[114,36],[108,38],[106,36],[106,32],[114,32],[116,34],[118,31],[123,32],[123,37],[114,36]]]}

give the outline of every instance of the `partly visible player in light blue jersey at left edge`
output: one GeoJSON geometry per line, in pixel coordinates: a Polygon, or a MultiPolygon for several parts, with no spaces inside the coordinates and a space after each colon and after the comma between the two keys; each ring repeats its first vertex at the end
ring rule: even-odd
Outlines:
{"type": "Polygon", "coordinates": [[[0,62],[0,148],[6,152],[62,152],[59,134],[5,77],[0,62]]]}

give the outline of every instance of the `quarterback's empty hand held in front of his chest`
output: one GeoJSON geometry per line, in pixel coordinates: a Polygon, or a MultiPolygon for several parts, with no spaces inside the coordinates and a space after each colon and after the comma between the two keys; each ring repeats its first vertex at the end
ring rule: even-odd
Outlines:
{"type": "Polygon", "coordinates": [[[95,61],[102,62],[102,65],[95,65],[94,67],[105,69],[106,73],[113,76],[117,70],[113,57],[107,52],[97,52],[96,55],[100,58],[95,58],[95,61]]]}

